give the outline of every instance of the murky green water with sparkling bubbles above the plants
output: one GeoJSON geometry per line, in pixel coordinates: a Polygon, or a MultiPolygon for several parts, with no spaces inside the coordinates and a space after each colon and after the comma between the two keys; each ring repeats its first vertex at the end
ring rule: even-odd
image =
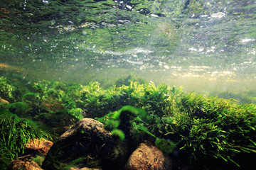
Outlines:
{"type": "Polygon", "coordinates": [[[0,73],[256,91],[256,1],[1,1],[0,73]]]}

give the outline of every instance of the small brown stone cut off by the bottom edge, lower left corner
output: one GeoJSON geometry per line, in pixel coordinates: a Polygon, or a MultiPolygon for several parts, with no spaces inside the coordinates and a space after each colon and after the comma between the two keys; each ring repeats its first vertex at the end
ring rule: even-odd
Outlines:
{"type": "Polygon", "coordinates": [[[16,160],[11,164],[12,170],[43,170],[36,162],[16,160]]]}

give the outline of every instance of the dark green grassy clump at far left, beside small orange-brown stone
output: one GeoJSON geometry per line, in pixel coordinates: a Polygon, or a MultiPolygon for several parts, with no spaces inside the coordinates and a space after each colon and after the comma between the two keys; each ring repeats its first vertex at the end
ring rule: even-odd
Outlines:
{"type": "Polygon", "coordinates": [[[23,153],[24,145],[30,139],[51,139],[47,132],[29,124],[26,120],[17,120],[7,115],[0,115],[0,128],[0,162],[6,166],[7,160],[14,159],[18,154],[23,153]]]}

